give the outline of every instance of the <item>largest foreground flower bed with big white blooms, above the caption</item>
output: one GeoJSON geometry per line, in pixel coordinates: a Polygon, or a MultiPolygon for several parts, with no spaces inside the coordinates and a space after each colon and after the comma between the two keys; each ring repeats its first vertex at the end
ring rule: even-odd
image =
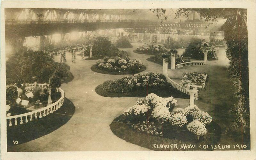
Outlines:
{"type": "Polygon", "coordinates": [[[110,129],[119,138],[151,150],[200,150],[200,144],[219,141],[220,127],[212,122],[208,113],[196,105],[184,109],[176,106],[173,97],[148,94],[124,110],[124,114],[110,124],[110,129]],[[177,148],[157,148],[156,144],[177,144],[177,148]],[[182,149],[182,144],[197,147],[182,149]]]}

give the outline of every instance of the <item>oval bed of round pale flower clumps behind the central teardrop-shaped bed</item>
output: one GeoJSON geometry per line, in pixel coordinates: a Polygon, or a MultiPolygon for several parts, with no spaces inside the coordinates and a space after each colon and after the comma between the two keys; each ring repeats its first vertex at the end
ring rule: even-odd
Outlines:
{"type": "Polygon", "coordinates": [[[91,70],[103,74],[132,74],[146,70],[140,59],[131,59],[128,55],[123,57],[104,57],[91,67],[91,70]]]}

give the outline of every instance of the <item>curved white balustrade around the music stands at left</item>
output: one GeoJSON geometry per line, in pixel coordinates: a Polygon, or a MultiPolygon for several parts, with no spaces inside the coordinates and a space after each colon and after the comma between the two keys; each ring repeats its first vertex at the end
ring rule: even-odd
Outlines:
{"type": "MultiPolygon", "coordinates": [[[[37,84],[37,85],[39,87],[44,86],[44,84],[37,84]]],[[[34,84],[29,84],[29,86],[34,86],[34,84]]],[[[12,126],[13,123],[15,126],[18,124],[23,124],[23,122],[27,123],[29,121],[32,121],[33,118],[35,118],[35,119],[42,118],[42,117],[45,117],[46,115],[49,115],[49,114],[55,112],[56,110],[58,110],[63,105],[64,96],[65,96],[65,92],[61,88],[58,88],[58,89],[61,93],[61,97],[58,101],[56,101],[44,108],[35,110],[35,111],[31,111],[31,112],[24,113],[21,115],[7,116],[6,120],[7,120],[7,123],[9,123],[9,126],[12,126]]]]}

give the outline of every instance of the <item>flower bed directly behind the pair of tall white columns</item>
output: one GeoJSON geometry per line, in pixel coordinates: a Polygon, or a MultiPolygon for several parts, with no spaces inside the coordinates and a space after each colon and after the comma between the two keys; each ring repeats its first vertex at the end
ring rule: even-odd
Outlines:
{"type": "MultiPolygon", "coordinates": [[[[166,53],[158,53],[154,56],[149,57],[147,60],[163,66],[163,56],[165,55],[166,53]]],[[[167,52],[167,56],[168,56],[168,68],[171,69],[171,66],[172,66],[171,56],[168,55],[168,52],[167,52]]],[[[190,62],[190,57],[182,57],[179,54],[176,54],[175,57],[176,57],[176,65],[180,63],[190,62]]]]}

